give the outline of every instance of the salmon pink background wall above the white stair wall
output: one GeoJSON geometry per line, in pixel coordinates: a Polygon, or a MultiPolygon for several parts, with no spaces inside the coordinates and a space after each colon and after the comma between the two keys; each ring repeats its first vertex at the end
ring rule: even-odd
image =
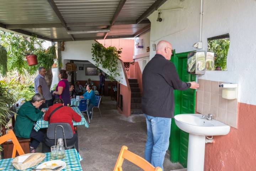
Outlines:
{"type": "Polygon", "coordinates": [[[123,62],[132,62],[133,61],[133,52],[134,52],[134,40],[133,39],[105,39],[98,40],[101,44],[105,44],[105,47],[115,46],[117,50],[122,49],[121,60],[123,62]],[[120,41],[120,42],[119,42],[120,41]]]}

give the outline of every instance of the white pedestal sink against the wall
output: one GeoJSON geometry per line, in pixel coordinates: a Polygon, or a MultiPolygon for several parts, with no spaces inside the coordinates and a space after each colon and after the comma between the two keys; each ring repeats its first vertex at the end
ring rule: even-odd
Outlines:
{"type": "Polygon", "coordinates": [[[177,127],[189,133],[187,171],[204,171],[206,136],[226,135],[230,126],[215,119],[207,120],[202,114],[178,114],[177,127]]]}

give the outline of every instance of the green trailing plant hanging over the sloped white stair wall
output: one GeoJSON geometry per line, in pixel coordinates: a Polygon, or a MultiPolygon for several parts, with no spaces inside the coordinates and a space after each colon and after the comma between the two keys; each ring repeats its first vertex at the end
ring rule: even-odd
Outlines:
{"type": "Polygon", "coordinates": [[[107,74],[111,81],[120,76],[120,73],[118,72],[118,59],[121,57],[119,55],[119,53],[122,53],[121,49],[122,48],[117,50],[117,48],[113,46],[105,48],[100,43],[92,44],[92,60],[96,62],[95,65],[97,67],[102,65],[102,68],[109,71],[107,74]]]}

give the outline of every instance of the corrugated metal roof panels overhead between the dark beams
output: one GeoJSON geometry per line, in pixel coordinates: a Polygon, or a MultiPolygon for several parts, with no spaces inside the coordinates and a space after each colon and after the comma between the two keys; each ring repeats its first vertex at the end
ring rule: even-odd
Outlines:
{"type": "MultiPolygon", "coordinates": [[[[3,23],[4,25],[12,25],[12,27],[9,28],[17,29],[16,31],[19,29],[19,32],[27,31],[49,39],[70,40],[71,35],[68,34],[67,31],[91,31],[108,28],[118,8],[119,2],[122,1],[54,0],[54,2],[57,6],[57,12],[56,8],[54,9],[56,13],[53,10],[54,6],[50,5],[47,0],[0,0],[0,26],[1,23],[3,23]],[[102,26],[98,26],[101,25],[101,22],[104,22],[102,26]],[[29,27],[23,26],[24,24],[39,23],[41,23],[39,28],[34,28],[34,26],[31,25],[29,27]],[[62,23],[62,25],[67,23],[68,27],[65,28],[58,24],[45,26],[44,23],[62,23]],[[92,26],[94,23],[96,23],[97,26],[92,26]],[[19,26],[20,24],[23,24],[23,27],[19,26]]],[[[156,0],[126,0],[116,21],[129,22],[119,23],[122,25],[113,25],[107,36],[133,36],[143,31],[143,29],[148,28],[150,23],[137,25],[131,23],[135,23],[135,21],[155,2],[156,0]]],[[[26,34],[26,32],[22,33],[26,34]]],[[[102,38],[106,33],[79,33],[72,35],[75,39],[102,38]]]]}

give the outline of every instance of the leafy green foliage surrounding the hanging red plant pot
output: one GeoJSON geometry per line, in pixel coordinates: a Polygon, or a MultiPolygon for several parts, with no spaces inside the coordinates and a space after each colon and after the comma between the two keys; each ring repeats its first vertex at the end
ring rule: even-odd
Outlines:
{"type": "Polygon", "coordinates": [[[36,73],[39,66],[44,66],[46,70],[50,69],[57,59],[55,46],[48,49],[43,48],[44,40],[37,39],[36,35],[30,38],[18,34],[0,31],[0,44],[7,50],[7,70],[17,70],[19,74],[28,72],[30,75],[36,73]],[[29,66],[26,61],[26,55],[36,54],[38,64],[29,66]]]}

